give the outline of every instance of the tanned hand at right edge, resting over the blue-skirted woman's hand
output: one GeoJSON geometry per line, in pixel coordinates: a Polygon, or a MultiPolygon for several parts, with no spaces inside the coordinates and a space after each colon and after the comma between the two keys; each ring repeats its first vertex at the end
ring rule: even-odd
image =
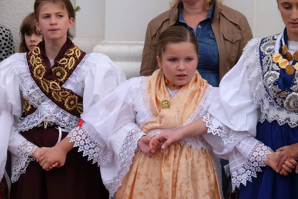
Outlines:
{"type": "Polygon", "coordinates": [[[278,168],[276,170],[278,173],[281,172],[286,161],[290,162],[290,160],[298,160],[298,143],[281,147],[276,151],[280,152],[278,157],[280,161],[278,162],[278,168]]]}

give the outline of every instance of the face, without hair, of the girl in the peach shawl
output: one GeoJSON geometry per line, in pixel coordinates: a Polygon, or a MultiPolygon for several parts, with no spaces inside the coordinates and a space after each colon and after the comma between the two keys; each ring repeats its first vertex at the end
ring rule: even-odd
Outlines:
{"type": "Polygon", "coordinates": [[[157,62],[168,81],[183,86],[189,83],[195,75],[198,54],[194,44],[190,42],[167,44],[162,58],[157,56],[157,62]]]}

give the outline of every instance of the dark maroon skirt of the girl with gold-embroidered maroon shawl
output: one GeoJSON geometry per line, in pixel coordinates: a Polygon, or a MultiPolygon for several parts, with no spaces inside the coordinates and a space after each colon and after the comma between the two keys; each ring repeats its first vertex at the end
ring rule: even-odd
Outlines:
{"type": "MultiPolygon", "coordinates": [[[[52,147],[59,131],[52,126],[30,129],[21,134],[38,147],[52,147]]],[[[62,133],[62,139],[68,133],[62,133]]],[[[67,154],[65,165],[45,171],[36,161],[29,163],[26,173],[11,184],[10,199],[108,199],[97,164],[87,161],[74,148],[67,154]]]]}

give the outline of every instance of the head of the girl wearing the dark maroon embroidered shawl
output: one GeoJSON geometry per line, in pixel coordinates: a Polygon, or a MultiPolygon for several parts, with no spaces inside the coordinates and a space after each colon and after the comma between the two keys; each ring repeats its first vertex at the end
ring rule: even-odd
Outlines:
{"type": "Polygon", "coordinates": [[[45,40],[73,38],[69,29],[74,23],[74,7],[70,0],[35,0],[35,24],[45,40]]]}

